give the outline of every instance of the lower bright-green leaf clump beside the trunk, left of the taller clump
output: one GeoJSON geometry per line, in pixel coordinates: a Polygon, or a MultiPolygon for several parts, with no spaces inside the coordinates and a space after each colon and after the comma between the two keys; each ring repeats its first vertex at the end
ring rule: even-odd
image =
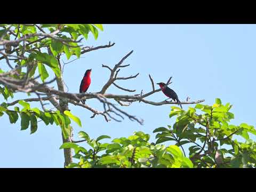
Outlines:
{"type": "Polygon", "coordinates": [[[141,131],[128,138],[116,138],[111,143],[99,142],[110,139],[107,135],[97,139],[90,139],[85,132],[79,132],[79,135],[86,139],[90,149],[86,150],[75,143],[63,143],[60,149],[73,148],[76,153],[74,158],[80,160],[68,167],[193,167],[179,147],[149,143],[149,135],[141,131]]]}

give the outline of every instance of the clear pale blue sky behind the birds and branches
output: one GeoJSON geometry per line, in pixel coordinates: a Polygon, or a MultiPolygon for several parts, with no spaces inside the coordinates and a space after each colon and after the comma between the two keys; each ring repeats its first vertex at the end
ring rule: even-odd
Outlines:
{"type": "MultiPolygon", "coordinates": [[[[233,105],[231,112],[235,114],[235,119],[231,121],[232,124],[244,122],[255,126],[256,25],[103,27],[104,31],[99,32],[97,40],[90,35],[87,41],[84,40],[84,45],[95,47],[108,44],[109,41],[116,44],[111,48],[85,53],[81,59],[65,66],[63,76],[69,92],[79,92],[81,79],[86,69],[91,68],[92,83],[88,91],[99,91],[109,78],[109,70],[101,65],[113,67],[125,54],[134,50],[124,62],[131,66],[121,69],[119,75],[140,75],[137,79],[119,81],[118,85],[136,89],[136,93],[142,89],[148,92],[151,91],[148,74],[155,83],[166,82],[172,76],[170,87],[177,92],[181,101],[189,96],[191,100],[205,99],[204,104],[212,105],[215,98],[220,98],[222,103],[230,102],[233,105]]],[[[66,62],[66,58],[63,60],[66,62]]],[[[126,94],[115,86],[111,86],[107,92],[126,94]]],[[[25,94],[14,95],[14,100],[24,98],[25,94]]],[[[4,101],[3,97],[0,99],[4,101]]],[[[147,99],[159,102],[166,98],[162,92],[158,92],[147,99]]],[[[86,103],[102,109],[95,99],[87,100],[86,103]]],[[[31,102],[30,106],[40,107],[35,102],[31,102]]],[[[195,105],[183,105],[183,108],[186,110],[188,106],[195,105]]],[[[111,139],[143,131],[154,139],[155,135],[151,134],[154,129],[173,124],[174,118],[169,118],[170,107],[150,106],[142,102],[123,107],[128,113],[144,119],[144,125],[140,125],[127,118],[121,123],[107,123],[100,115],[90,118],[90,111],[70,104],[71,112],[81,119],[83,125],[81,128],[72,122],[74,139],[78,139],[79,131],[87,132],[91,138],[107,134],[111,139]]],[[[37,132],[30,135],[29,129],[20,131],[20,119],[16,124],[10,124],[8,116],[4,115],[0,117],[0,122],[0,167],[63,167],[59,127],[45,126],[40,122],[37,132]]]]}

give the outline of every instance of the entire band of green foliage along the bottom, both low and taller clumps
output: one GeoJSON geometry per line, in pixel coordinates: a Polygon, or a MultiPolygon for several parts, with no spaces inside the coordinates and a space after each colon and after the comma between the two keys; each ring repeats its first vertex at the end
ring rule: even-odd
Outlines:
{"type": "Polygon", "coordinates": [[[230,108],[230,103],[222,105],[220,99],[212,106],[198,104],[187,111],[171,107],[170,118],[175,116],[175,122],[153,131],[155,143],[141,131],[110,143],[99,142],[109,139],[107,135],[90,139],[87,133],[79,132],[89,149],[74,143],[64,143],[61,148],[73,148],[74,158],[79,159],[67,167],[255,167],[256,143],[250,134],[256,135],[256,130],[246,123],[230,124],[234,118],[230,108]],[[238,142],[235,135],[245,142],[238,142]],[[189,146],[188,157],[184,145],[189,146]]]}

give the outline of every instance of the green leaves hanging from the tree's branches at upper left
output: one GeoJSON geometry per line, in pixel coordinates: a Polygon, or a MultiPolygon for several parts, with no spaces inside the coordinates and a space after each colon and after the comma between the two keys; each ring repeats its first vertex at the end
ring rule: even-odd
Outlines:
{"type": "MultiPolygon", "coordinates": [[[[57,38],[41,38],[34,36],[26,39],[26,46],[17,45],[15,50],[5,50],[6,52],[16,52],[17,55],[26,55],[27,59],[14,60],[17,66],[27,67],[27,71],[18,71],[18,74],[11,74],[11,77],[16,79],[22,79],[28,75],[33,77],[35,71],[38,70],[38,74],[41,77],[43,83],[47,81],[51,73],[54,73],[56,77],[60,77],[61,69],[59,65],[59,59],[61,55],[66,55],[67,59],[71,56],[77,58],[81,55],[81,48],[78,45],[77,39],[81,37],[88,38],[89,33],[93,35],[95,39],[98,38],[98,29],[103,30],[101,24],[43,24],[39,25],[39,28],[35,25],[17,25],[17,24],[3,24],[0,25],[0,37],[3,39],[13,39],[25,37],[29,34],[45,33],[59,30],[57,38]],[[7,29],[12,29],[14,35],[10,35],[7,29]],[[17,37],[15,37],[17,35],[17,37]],[[13,37],[11,37],[13,36],[13,37]],[[62,41],[63,40],[63,41],[62,41]],[[50,49],[49,50],[47,49],[50,49]],[[47,66],[47,67],[46,67],[47,66]],[[49,71],[51,69],[52,71],[49,71]]],[[[5,73],[0,69],[0,74],[5,73]]],[[[0,95],[8,101],[13,98],[13,91],[5,86],[0,86],[0,95]]],[[[29,94],[28,94],[29,95],[29,94]]],[[[20,100],[18,103],[21,108],[14,107],[14,110],[10,109],[7,102],[0,104],[0,116],[4,114],[9,116],[10,123],[17,123],[19,117],[21,119],[21,130],[27,130],[30,125],[30,133],[33,134],[37,131],[37,122],[41,119],[45,125],[55,124],[61,127],[62,133],[65,138],[68,138],[71,132],[70,119],[76,122],[79,126],[82,126],[80,119],[73,115],[70,111],[49,110],[42,111],[38,108],[31,108],[28,102],[20,100]]]]}

